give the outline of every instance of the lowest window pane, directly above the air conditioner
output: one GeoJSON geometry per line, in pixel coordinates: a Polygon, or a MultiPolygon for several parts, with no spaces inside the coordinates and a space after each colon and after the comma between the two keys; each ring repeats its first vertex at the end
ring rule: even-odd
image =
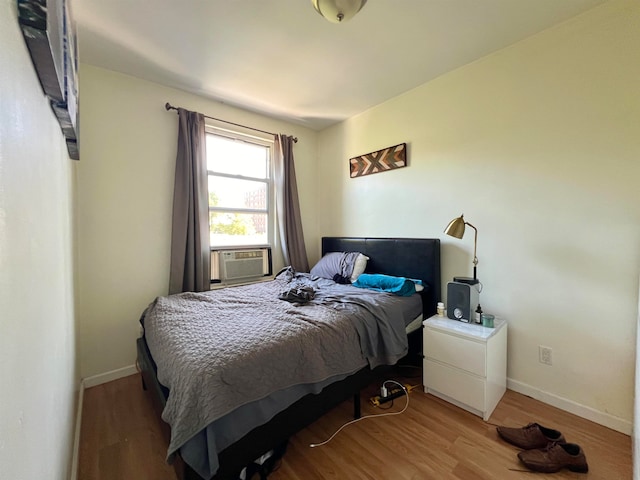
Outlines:
{"type": "Polygon", "coordinates": [[[209,212],[212,246],[266,245],[266,213],[209,212]]]}

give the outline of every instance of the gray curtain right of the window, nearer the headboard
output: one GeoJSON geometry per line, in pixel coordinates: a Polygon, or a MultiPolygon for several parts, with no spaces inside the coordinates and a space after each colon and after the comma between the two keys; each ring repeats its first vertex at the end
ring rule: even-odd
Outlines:
{"type": "Polygon", "coordinates": [[[276,208],[280,245],[285,264],[298,272],[309,271],[307,249],[304,246],[300,202],[293,164],[293,137],[275,136],[276,208]]]}

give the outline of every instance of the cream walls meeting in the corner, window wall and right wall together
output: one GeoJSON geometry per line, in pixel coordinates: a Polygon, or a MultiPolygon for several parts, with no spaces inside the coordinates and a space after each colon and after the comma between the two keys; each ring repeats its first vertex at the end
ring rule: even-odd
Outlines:
{"type": "Polygon", "coordinates": [[[483,307],[510,322],[510,387],[630,432],[639,16],[637,2],[609,2],[320,134],[81,65],[82,376],[131,365],[138,317],[167,291],[169,101],[300,138],[312,263],[322,235],[439,237],[444,287],[471,271],[472,236],[442,233],[464,213],[480,231],[483,307]],[[349,178],[348,158],[401,142],[408,168],[349,178]],[[538,362],[539,345],[553,366],[538,362]]]}

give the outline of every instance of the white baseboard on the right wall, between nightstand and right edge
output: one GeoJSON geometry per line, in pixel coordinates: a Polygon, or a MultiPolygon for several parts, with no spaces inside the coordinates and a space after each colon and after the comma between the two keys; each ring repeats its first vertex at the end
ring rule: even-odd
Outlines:
{"type": "Polygon", "coordinates": [[[614,417],[608,413],[598,411],[594,408],[581,405],[572,400],[559,397],[549,392],[539,390],[526,383],[518,382],[517,380],[507,379],[507,388],[514,392],[522,393],[529,397],[540,400],[543,403],[557,407],[569,413],[573,413],[587,420],[591,420],[599,425],[611,428],[617,432],[624,433],[625,435],[631,435],[633,423],[629,420],[624,420],[619,417],[614,417]]]}

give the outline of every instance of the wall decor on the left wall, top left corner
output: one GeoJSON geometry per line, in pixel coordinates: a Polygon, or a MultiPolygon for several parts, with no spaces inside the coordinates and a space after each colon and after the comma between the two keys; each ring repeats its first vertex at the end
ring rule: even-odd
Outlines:
{"type": "Polygon", "coordinates": [[[18,23],[69,156],[80,159],[78,49],[71,0],[17,0],[18,23]]]}

